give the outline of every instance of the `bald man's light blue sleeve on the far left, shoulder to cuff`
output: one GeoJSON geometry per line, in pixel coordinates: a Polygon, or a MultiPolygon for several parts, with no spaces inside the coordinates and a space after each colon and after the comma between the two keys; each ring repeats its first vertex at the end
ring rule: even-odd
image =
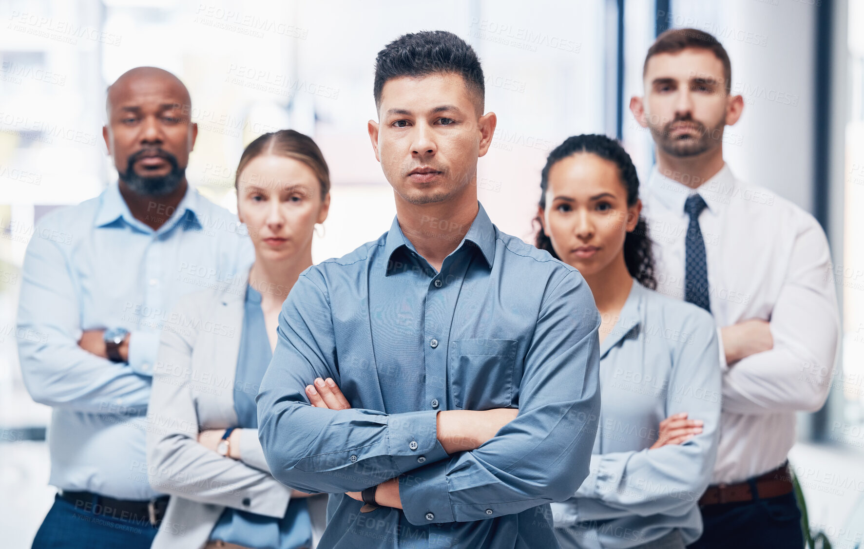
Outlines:
{"type": "Polygon", "coordinates": [[[82,349],[80,306],[61,246],[34,232],[24,256],[18,305],[18,355],[34,401],[75,412],[141,413],[149,376],[82,349]]]}

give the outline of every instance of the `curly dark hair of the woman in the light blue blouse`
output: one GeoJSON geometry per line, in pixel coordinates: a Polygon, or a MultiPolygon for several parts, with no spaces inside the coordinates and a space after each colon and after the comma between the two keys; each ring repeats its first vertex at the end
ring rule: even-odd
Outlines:
{"type": "MultiPolygon", "coordinates": [[[[618,166],[621,174],[621,183],[627,189],[627,205],[635,205],[639,198],[639,178],[636,167],[627,151],[620,143],[607,136],[597,134],[582,134],[581,136],[568,137],[562,144],[558,145],[546,159],[546,166],[540,179],[540,207],[546,209],[546,189],[549,186],[550,169],[556,162],[562,161],[576,153],[590,153],[600,158],[613,162],[618,166]]],[[[561,259],[552,248],[550,237],[543,231],[541,218],[537,215],[532,224],[537,225],[537,236],[535,245],[539,249],[545,249],[556,259],[561,259]]],[[[639,216],[636,228],[627,233],[624,240],[624,262],[627,271],[642,286],[656,289],[657,278],[654,275],[654,256],[651,252],[651,239],[648,237],[648,224],[645,218],[639,216]]]]}

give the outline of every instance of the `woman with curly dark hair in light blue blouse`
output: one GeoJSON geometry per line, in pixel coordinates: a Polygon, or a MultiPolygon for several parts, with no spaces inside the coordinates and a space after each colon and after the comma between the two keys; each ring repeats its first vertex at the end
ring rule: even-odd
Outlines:
{"type": "Polygon", "coordinates": [[[591,474],[553,503],[562,547],[682,549],[715,462],[721,370],[714,319],[654,292],[630,156],[569,137],[543,167],[537,247],[577,268],[600,311],[600,422],[591,474]]]}

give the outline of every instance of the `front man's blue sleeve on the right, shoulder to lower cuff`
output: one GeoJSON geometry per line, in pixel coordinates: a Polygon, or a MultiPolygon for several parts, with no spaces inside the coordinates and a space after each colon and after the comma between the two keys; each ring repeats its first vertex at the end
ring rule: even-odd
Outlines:
{"type": "Polygon", "coordinates": [[[412,524],[477,521],[572,496],[588,476],[600,414],[600,316],[570,272],[541,306],[519,413],[485,444],[399,477],[412,524]]]}

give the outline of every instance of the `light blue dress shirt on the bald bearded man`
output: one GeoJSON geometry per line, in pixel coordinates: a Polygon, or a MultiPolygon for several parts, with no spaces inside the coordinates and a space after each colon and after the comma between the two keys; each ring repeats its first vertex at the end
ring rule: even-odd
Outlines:
{"type": "Polygon", "coordinates": [[[249,237],[229,211],[193,188],[159,230],[132,217],[115,182],[98,197],[51,211],[24,257],[18,327],[24,383],[54,407],[49,483],[121,499],[154,495],[147,478],[146,411],[161,330],[181,295],[245,276],[249,237]],[[129,363],[77,342],[84,330],[131,332],[129,363]]]}

